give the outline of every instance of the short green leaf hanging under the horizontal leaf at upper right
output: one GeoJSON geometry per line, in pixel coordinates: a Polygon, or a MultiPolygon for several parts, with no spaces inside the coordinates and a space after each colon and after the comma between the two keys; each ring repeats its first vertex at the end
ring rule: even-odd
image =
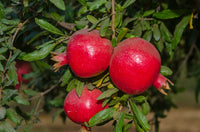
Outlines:
{"type": "Polygon", "coordinates": [[[172,41],[172,34],[169,32],[168,28],[165,26],[163,22],[161,22],[160,24],[160,32],[166,41],[168,42],[172,41]]]}

